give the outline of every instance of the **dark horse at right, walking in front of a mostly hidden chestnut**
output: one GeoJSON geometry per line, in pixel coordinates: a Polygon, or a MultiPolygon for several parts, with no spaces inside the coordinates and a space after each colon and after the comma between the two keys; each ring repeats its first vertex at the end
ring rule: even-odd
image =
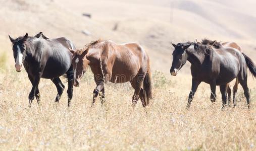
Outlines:
{"type": "MultiPolygon", "coordinates": [[[[215,93],[216,86],[220,86],[222,95],[222,108],[227,103],[227,87],[233,79],[237,78],[243,88],[248,109],[250,108],[249,89],[247,87],[247,67],[256,77],[256,66],[244,53],[234,48],[215,49],[210,45],[194,42],[172,44],[173,61],[170,69],[171,75],[176,76],[178,70],[188,60],[191,63],[192,87],[188,96],[187,109],[189,109],[194,94],[201,82],[210,84],[211,91],[215,93]]],[[[211,95],[211,99],[213,99],[211,95]]],[[[235,98],[234,98],[235,99],[235,98]]],[[[234,105],[235,100],[233,100],[234,105]]]]}

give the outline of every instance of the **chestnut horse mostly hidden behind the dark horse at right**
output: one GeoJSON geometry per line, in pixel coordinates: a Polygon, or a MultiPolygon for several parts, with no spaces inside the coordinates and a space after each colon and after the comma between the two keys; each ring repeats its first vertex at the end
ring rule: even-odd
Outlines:
{"type": "MultiPolygon", "coordinates": [[[[239,46],[236,42],[217,42],[216,40],[213,41],[213,40],[209,40],[209,39],[205,38],[205,39],[202,39],[201,42],[197,42],[197,43],[201,43],[201,44],[204,44],[204,45],[211,45],[211,46],[213,46],[216,49],[231,47],[231,48],[237,49],[240,52],[243,52],[242,51],[242,47],[239,46]]],[[[235,85],[233,87],[233,98],[236,97],[236,93],[237,93],[237,89],[238,89],[238,84],[239,84],[238,80],[236,79],[235,85]]],[[[230,84],[228,84],[227,93],[228,93],[228,104],[230,106],[230,100],[231,100],[231,86],[230,86],[230,84]]],[[[211,94],[211,95],[215,95],[216,96],[216,94],[211,94]]],[[[215,102],[215,100],[216,99],[214,99],[213,102],[215,102]]],[[[233,103],[233,106],[235,106],[235,105],[236,105],[236,102],[233,103]]]]}

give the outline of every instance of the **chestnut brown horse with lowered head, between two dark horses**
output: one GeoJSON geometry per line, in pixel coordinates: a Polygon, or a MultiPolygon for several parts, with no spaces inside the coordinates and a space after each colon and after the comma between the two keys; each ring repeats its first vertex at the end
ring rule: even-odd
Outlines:
{"type": "Polygon", "coordinates": [[[132,106],[137,104],[138,99],[143,107],[149,104],[152,98],[149,57],[139,44],[116,44],[111,40],[96,40],[82,49],[70,51],[73,53],[75,87],[79,87],[80,79],[88,66],[94,74],[96,88],[93,90],[91,105],[95,103],[99,93],[101,105],[104,104],[106,82],[130,82],[134,89],[132,106]]]}

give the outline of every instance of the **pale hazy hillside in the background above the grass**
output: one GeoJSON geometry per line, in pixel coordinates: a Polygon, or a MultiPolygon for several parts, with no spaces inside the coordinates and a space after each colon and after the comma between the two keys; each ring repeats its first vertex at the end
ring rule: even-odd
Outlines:
{"type": "MultiPolygon", "coordinates": [[[[44,32],[50,38],[67,37],[77,47],[98,38],[139,42],[149,53],[151,66],[165,73],[171,65],[170,41],[204,37],[235,41],[256,59],[255,1],[1,1],[0,52],[14,62],[8,34],[13,37],[44,32]],[[91,14],[92,18],[82,16],[91,14]],[[114,27],[117,29],[114,31],[114,27]],[[90,35],[82,33],[85,31],[90,35]]],[[[189,66],[189,65],[187,65],[189,66]]],[[[188,68],[183,69],[183,72],[188,68]]]]}

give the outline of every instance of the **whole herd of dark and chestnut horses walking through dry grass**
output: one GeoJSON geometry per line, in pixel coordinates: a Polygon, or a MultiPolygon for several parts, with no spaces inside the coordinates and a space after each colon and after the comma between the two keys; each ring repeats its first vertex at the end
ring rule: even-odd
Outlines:
{"type": "MultiPolygon", "coordinates": [[[[42,32],[35,36],[18,37],[9,35],[13,46],[16,71],[20,72],[22,65],[32,84],[29,93],[29,107],[36,98],[40,103],[38,84],[41,78],[50,79],[56,86],[59,102],[65,86],[59,77],[65,75],[68,82],[68,107],[73,97],[73,86],[79,87],[80,80],[90,66],[96,84],[93,90],[92,104],[100,96],[101,104],[105,102],[106,82],[130,82],[134,89],[132,106],[140,99],[146,107],[152,99],[151,75],[149,57],[146,51],[137,43],[117,44],[111,40],[96,40],[86,44],[82,49],[67,38],[49,39],[42,32]]],[[[188,96],[187,108],[190,107],[194,94],[201,82],[210,84],[211,101],[216,101],[216,86],[220,86],[222,108],[231,101],[230,82],[236,79],[233,87],[233,106],[236,105],[238,84],[243,88],[250,108],[249,89],[247,87],[247,67],[256,77],[256,66],[242,52],[242,48],[234,42],[217,42],[203,39],[201,42],[185,42],[172,44],[175,48],[170,69],[176,76],[182,66],[191,63],[192,87],[188,96]]]]}

